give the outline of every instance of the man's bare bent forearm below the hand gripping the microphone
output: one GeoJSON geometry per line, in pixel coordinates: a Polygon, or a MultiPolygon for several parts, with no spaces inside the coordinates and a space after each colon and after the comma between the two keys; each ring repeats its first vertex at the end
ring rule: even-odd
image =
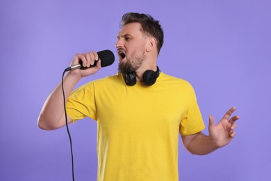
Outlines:
{"type": "MultiPolygon", "coordinates": [[[[72,93],[74,86],[77,84],[79,79],[80,77],[76,77],[69,73],[64,77],[63,87],[65,91],[65,101],[67,101],[67,97],[72,93]]],[[[38,127],[50,130],[57,129],[63,125],[65,125],[65,112],[63,90],[60,83],[44,102],[42,111],[38,118],[38,127]]]]}

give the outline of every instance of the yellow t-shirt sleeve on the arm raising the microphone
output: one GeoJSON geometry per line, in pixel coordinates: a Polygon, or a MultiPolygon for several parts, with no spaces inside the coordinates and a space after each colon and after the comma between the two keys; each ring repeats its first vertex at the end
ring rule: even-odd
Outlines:
{"type": "Polygon", "coordinates": [[[66,109],[73,123],[85,117],[97,120],[94,83],[90,82],[73,91],[68,97],[66,109]]]}

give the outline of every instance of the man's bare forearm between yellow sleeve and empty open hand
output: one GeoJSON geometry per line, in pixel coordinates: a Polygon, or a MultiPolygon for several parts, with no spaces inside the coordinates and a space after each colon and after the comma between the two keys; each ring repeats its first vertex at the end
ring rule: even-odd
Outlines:
{"type": "Polygon", "coordinates": [[[217,148],[219,147],[213,143],[210,136],[206,136],[202,133],[197,134],[187,146],[187,150],[195,155],[207,155],[217,150],[217,148]]]}

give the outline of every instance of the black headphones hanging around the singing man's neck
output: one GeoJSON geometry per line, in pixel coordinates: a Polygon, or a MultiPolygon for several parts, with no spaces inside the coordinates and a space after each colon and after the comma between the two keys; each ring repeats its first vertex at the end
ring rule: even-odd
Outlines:
{"type": "MultiPolygon", "coordinates": [[[[157,70],[146,70],[143,74],[142,81],[145,86],[154,85],[156,79],[159,77],[160,70],[157,67],[157,70]]],[[[123,73],[122,77],[127,86],[134,86],[136,84],[136,72],[123,73]]]]}

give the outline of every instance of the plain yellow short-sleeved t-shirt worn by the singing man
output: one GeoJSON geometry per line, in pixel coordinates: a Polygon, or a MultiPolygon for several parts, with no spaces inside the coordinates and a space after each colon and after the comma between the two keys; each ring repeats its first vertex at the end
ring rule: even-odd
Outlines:
{"type": "Polygon", "coordinates": [[[163,72],[153,86],[126,86],[122,74],[91,81],[67,114],[97,120],[98,181],[177,181],[179,133],[204,129],[192,86],[163,72]]]}

